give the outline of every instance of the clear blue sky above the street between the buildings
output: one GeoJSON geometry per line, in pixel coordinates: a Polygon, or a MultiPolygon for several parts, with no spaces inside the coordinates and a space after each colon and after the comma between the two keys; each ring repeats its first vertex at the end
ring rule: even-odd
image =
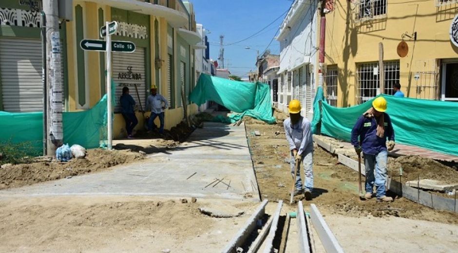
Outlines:
{"type": "MultiPolygon", "coordinates": [[[[280,54],[280,44],[272,38],[282,24],[292,0],[191,0],[191,2],[194,5],[196,22],[210,30],[210,34],[207,35],[210,41],[210,58],[214,60],[218,58],[219,36],[224,35],[224,68],[229,68],[231,74],[248,77],[248,72],[256,69],[256,50],[262,54],[271,41],[268,46],[271,54],[280,54]],[[274,21],[277,18],[278,20],[274,21]],[[272,24],[267,27],[270,23],[272,24]],[[263,28],[266,29],[253,36],[263,28]],[[253,37],[248,38],[250,36],[253,37]],[[250,47],[252,50],[245,47],[250,47]]],[[[218,63],[221,67],[220,61],[218,63]]]]}

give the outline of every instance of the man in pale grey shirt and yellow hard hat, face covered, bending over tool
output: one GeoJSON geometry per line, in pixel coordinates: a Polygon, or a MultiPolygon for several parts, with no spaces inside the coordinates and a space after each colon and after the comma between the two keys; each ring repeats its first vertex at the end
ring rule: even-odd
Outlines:
{"type": "Polygon", "coordinates": [[[305,199],[310,200],[312,199],[313,190],[313,139],[310,121],[301,116],[301,108],[301,103],[298,100],[291,100],[288,105],[289,118],[283,122],[283,126],[285,127],[286,140],[289,144],[291,155],[290,167],[293,179],[296,162],[303,162],[304,165],[305,186],[302,189],[303,185],[299,165],[294,196],[304,192],[305,199]]]}

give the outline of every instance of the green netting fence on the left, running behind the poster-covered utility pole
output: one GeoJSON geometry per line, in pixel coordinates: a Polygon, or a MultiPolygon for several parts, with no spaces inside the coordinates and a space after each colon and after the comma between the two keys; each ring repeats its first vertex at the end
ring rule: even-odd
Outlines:
{"type": "MultiPolygon", "coordinates": [[[[112,80],[112,87],[115,83],[112,80]]],[[[112,89],[115,106],[115,89],[112,89]]],[[[63,143],[78,144],[85,148],[106,147],[107,133],[107,95],[91,109],[78,112],[63,112],[63,143]]],[[[114,117],[113,117],[114,118],[114,117]]],[[[34,156],[43,153],[43,113],[10,113],[0,111],[0,144],[27,143],[32,145],[34,156]]]]}

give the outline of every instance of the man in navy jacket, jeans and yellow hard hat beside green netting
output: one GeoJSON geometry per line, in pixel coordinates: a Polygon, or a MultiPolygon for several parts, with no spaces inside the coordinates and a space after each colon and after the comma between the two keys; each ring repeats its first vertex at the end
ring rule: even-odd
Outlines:
{"type": "Polygon", "coordinates": [[[357,154],[363,152],[364,155],[366,168],[364,197],[365,199],[373,197],[375,184],[377,202],[393,201],[393,198],[385,195],[388,151],[393,150],[395,146],[394,129],[390,116],[385,112],[386,106],[386,100],[383,97],[379,96],[374,99],[372,107],[363,113],[351,130],[351,144],[355,147],[357,154]],[[386,145],[387,138],[388,146],[386,145]]]}

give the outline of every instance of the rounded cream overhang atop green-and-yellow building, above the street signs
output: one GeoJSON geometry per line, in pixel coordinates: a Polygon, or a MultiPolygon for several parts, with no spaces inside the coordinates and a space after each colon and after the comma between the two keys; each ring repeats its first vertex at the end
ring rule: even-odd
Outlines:
{"type": "Polygon", "coordinates": [[[109,5],[123,10],[165,18],[173,28],[183,27],[189,22],[188,15],[185,13],[149,2],[137,0],[88,0],[88,2],[96,2],[101,5],[109,5]]]}

